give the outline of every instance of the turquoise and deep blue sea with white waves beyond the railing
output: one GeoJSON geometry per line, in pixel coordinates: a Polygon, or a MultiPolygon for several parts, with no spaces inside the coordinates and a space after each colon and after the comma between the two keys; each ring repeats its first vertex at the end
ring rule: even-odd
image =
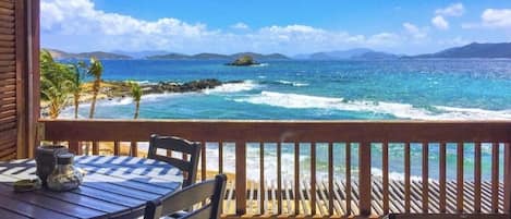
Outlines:
{"type": "MultiPolygon", "coordinates": [[[[511,60],[268,61],[244,68],[228,66],[224,62],[105,60],[102,77],[141,83],[243,81],[200,93],[143,96],[141,118],[145,119],[511,119],[511,60]]],[[[85,117],[88,108],[82,105],[81,114],[85,117]]],[[[102,100],[97,106],[96,118],[131,119],[133,112],[130,98],[102,100]]],[[[72,109],[66,109],[62,117],[71,113],[72,109]]],[[[306,165],[308,146],[303,147],[306,165]]],[[[430,174],[435,178],[438,146],[430,147],[430,174]]],[[[336,154],[340,156],[336,159],[342,159],[342,148],[337,147],[336,154]]],[[[374,146],[375,155],[378,148],[374,146]]],[[[465,172],[470,177],[473,148],[471,145],[465,148],[465,172]]],[[[489,147],[484,148],[484,156],[489,158],[489,147]]],[[[292,148],[284,146],[285,151],[292,153],[292,148]]],[[[412,166],[412,172],[419,174],[421,147],[412,146],[412,154],[417,156],[412,159],[417,162],[412,166]]],[[[326,160],[324,153],[319,151],[319,156],[326,160]]],[[[373,157],[373,167],[377,169],[380,156],[373,157]]],[[[485,160],[483,174],[487,178],[490,163],[489,159],[485,160]]],[[[391,161],[390,169],[402,172],[402,145],[391,146],[391,161]]],[[[454,146],[449,146],[448,161],[449,167],[455,167],[454,146]]],[[[319,168],[327,165],[321,163],[319,168]]],[[[450,177],[454,177],[453,171],[448,171],[450,177]]]]}

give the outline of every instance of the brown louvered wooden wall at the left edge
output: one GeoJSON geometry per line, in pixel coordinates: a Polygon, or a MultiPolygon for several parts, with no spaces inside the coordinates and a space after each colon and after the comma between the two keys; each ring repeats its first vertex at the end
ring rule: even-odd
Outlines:
{"type": "Polygon", "coordinates": [[[0,0],[1,160],[33,155],[29,148],[34,148],[39,96],[35,92],[39,78],[38,11],[38,0],[0,0]]]}

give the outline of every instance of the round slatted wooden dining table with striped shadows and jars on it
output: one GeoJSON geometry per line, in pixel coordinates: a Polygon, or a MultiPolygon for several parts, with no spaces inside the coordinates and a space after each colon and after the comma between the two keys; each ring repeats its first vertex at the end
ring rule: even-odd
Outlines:
{"type": "Polygon", "coordinates": [[[113,156],[75,157],[86,171],[83,184],[69,192],[41,188],[14,192],[12,184],[34,178],[35,160],[0,162],[0,218],[137,218],[147,200],[180,190],[175,167],[151,159],[113,156]]]}

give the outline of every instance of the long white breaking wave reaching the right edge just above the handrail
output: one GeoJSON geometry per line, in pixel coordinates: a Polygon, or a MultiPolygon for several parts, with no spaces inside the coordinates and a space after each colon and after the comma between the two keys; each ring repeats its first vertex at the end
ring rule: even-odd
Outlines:
{"type": "Polygon", "coordinates": [[[353,100],[299,94],[261,92],[258,95],[238,98],[235,101],[255,105],[269,105],[292,109],[329,109],[391,114],[400,119],[415,120],[511,120],[511,110],[485,110],[433,106],[435,111],[417,108],[409,104],[353,100]]]}

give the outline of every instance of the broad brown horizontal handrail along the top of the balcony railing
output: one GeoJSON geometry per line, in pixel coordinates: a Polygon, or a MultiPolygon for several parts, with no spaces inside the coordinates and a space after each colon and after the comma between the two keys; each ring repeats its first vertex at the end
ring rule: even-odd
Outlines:
{"type": "Polygon", "coordinates": [[[54,141],[511,142],[511,121],[40,120],[54,141]],[[221,129],[220,129],[221,127],[221,129]],[[84,132],[86,131],[86,132],[84,132]]]}

